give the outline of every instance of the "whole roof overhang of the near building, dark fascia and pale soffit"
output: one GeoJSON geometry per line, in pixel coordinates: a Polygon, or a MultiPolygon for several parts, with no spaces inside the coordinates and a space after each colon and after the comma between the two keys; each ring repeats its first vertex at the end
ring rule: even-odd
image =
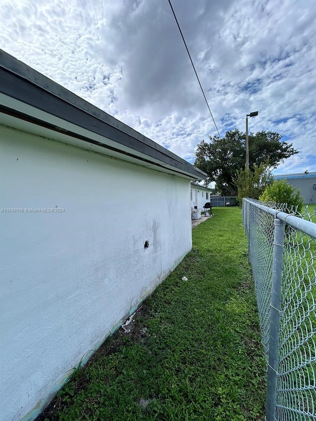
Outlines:
{"type": "Polygon", "coordinates": [[[2,50],[0,124],[190,180],[207,176],[2,50]]]}

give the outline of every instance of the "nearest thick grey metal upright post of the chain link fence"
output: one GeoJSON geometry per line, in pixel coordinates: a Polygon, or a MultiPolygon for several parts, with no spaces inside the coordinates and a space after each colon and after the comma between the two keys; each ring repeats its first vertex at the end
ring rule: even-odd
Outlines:
{"type": "Polygon", "coordinates": [[[282,291],[282,268],[285,222],[275,219],[272,266],[271,316],[269,333],[268,385],[266,421],[276,417],[276,379],[280,329],[280,305],[282,291]]]}

